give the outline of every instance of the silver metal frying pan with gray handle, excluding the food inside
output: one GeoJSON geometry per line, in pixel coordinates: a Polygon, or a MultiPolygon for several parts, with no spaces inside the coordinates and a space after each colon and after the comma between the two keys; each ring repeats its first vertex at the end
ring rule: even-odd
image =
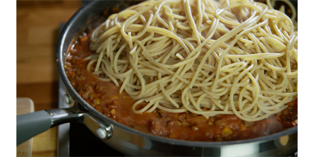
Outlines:
{"type": "Polygon", "coordinates": [[[98,136],[99,140],[127,156],[290,156],[298,151],[298,126],[275,134],[239,141],[183,141],[126,127],[86,103],[71,86],[65,74],[68,48],[80,33],[105,20],[102,16],[104,9],[109,9],[110,12],[113,7],[118,6],[121,10],[138,2],[95,0],[82,6],[70,18],[60,33],[56,52],[58,71],[67,88],[65,103],[69,107],[16,116],[16,146],[51,127],[67,122],[80,122],[98,136]]]}

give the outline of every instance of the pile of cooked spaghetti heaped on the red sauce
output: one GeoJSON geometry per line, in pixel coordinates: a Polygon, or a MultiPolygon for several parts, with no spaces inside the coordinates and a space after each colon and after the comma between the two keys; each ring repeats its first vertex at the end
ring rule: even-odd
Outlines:
{"type": "Polygon", "coordinates": [[[293,20],[250,0],[144,1],[94,30],[87,69],[137,100],[136,113],[262,120],[298,97],[293,20]]]}

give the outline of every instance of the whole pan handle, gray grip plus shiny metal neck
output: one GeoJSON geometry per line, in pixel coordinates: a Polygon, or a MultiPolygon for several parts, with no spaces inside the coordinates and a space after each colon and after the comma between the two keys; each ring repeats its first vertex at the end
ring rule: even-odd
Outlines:
{"type": "Polygon", "coordinates": [[[77,107],[40,110],[16,116],[16,146],[45,132],[51,127],[67,122],[84,122],[86,112],[77,107]]]}

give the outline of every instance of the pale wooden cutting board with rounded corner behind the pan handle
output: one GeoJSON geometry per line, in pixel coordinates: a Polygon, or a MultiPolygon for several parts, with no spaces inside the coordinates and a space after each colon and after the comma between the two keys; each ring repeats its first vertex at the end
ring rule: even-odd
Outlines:
{"type": "MultiPolygon", "coordinates": [[[[34,103],[30,98],[16,98],[16,115],[34,112],[34,103]]],[[[16,146],[16,157],[32,156],[33,138],[16,146]]]]}

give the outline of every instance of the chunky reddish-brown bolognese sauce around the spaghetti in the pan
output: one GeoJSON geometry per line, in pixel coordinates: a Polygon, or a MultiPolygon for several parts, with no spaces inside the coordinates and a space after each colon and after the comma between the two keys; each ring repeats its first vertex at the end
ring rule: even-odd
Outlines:
{"type": "MultiPolygon", "coordinates": [[[[65,71],[77,93],[103,115],[141,132],[188,141],[234,141],[281,132],[298,125],[298,99],[277,114],[256,122],[246,122],[236,115],[215,115],[208,119],[192,112],[173,113],[163,110],[136,114],[132,100],[119,86],[99,81],[87,71],[85,57],[95,52],[89,49],[92,30],[80,35],[67,54],[65,71]]],[[[96,63],[92,67],[96,66],[96,63]]],[[[98,77],[104,77],[100,74],[98,77]]],[[[140,110],[146,103],[136,107],[140,110]]],[[[202,110],[207,110],[206,107],[202,110]]]]}

